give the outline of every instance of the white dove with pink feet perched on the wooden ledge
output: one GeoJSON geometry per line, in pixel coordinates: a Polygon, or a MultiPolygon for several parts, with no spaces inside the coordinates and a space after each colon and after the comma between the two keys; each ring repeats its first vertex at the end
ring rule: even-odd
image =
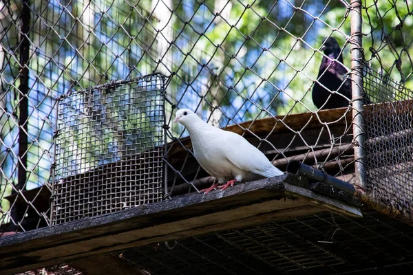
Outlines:
{"type": "Polygon", "coordinates": [[[178,110],[173,122],[187,127],[195,159],[209,175],[218,179],[218,184],[201,190],[205,194],[225,182],[224,186],[219,187],[221,190],[233,186],[237,181],[284,174],[244,137],[207,124],[189,109],[178,110]]]}

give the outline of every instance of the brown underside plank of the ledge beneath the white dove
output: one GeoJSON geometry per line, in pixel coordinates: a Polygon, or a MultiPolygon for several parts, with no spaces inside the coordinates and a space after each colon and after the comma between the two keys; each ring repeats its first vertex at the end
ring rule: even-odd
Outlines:
{"type": "MultiPolygon", "coordinates": [[[[266,206],[268,206],[268,203],[266,203],[266,206]]],[[[260,210],[262,208],[260,207],[260,205],[254,204],[252,206],[240,208],[236,212],[243,212],[242,217],[245,217],[244,212],[251,212],[253,209],[260,210]]],[[[122,251],[130,248],[136,248],[142,245],[148,245],[150,243],[162,243],[165,241],[187,238],[189,236],[198,236],[201,234],[208,234],[221,230],[240,228],[242,226],[245,226],[246,224],[257,225],[268,221],[295,219],[311,214],[319,214],[321,212],[325,212],[325,210],[316,206],[309,206],[308,204],[305,204],[304,206],[297,206],[295,208],[289,208],[286,210],[274,210],[264,214],[251,214],[251,216],[247,218],[235,221],[226,219],[226,215],[233,217],[234,212],[235,211],[220,212],[219,214],[217,213],[202,216],[203,219],[208,220],[220,219],[219,223],[210,223],[206,226],[200,224],[198,218],[193,218],[190,220],[182,221],[180,223],[166,223],[162,225],[156,225],[151,228],[145,228],[144,230],[134,230],[131,232],[115,234],[112,237],[105,236],[97,239],[85,240],[81,243],[76,244],[70,243],[59,245],[59,248],[46,248],[41,250],[41,252],[36,251],[27,254],[21,254],[21,256],[19,257],[12,257],[12,259],[10,259],[9,257],[9,265],[4,266],[3,263],[0,264],[0,267],[3,269],[3,273],[1,274],[11,275],[17,272],[33,270],[34,268],[55,265],[67,261],[77,261],[78,259],[82,259],[83,257],[103,254],[115,250],[122,251]],[[188,226],[193,227],[193,229],[187,230],[186,227],[188,226]],[[165,228],[183,229],[181,231],[171,232],[165,235],[165,228]],[[153,236],[153,234],[156,234],[156,236],[153,236]],[[152,237],[149,238],[148,235],[152,237]],[[94,250],[90,249],[91,245],[94,250]],[[44,261],[43,258],[47,258],[47,260],[44,261]]]]}

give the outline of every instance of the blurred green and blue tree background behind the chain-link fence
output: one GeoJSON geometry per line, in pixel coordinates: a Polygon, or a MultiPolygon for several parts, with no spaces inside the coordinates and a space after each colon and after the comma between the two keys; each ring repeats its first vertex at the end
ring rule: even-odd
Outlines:
{"type": "MultiPolygon", "coordinates": [[[[1,197],[17,182],[21,1],[0,1],[1,197]]],[[[335,36],[350,67],[349,3],[328,0],[32,0],[28,182],[50,181],[56,99],[161,72],[173,105],[217,126],[304,111],[335,36]]],[[[366,61],[413,88],[409,1],[363,1],[366,61]]],[[[182,126],[173,125],[176,135],[182,126]]],[[[187,133],[184,133],[187,135],[187,133]]],[[[2,201],[3,211],[8,209],[2,201]]]]}

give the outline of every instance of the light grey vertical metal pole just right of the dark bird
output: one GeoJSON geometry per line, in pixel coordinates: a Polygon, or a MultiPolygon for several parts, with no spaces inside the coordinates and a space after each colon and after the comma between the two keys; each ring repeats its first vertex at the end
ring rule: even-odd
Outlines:
{"type": "Polygon", "coordinates": [[[363,117],[363,47],[361,0],[350,1],[351,19],[351,89],[353,143],[357,186],[366,190],[366,133],[363,117]]]}

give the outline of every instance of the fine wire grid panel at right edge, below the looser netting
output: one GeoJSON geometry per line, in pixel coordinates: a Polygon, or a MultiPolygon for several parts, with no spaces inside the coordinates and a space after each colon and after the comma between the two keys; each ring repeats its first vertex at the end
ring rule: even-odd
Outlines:
{"type": "Polygon", "coordinates": [[[370,69],[364,88],[378,104],[366,108],[367,181],[372,198],[413,217],[413,91],[370,69]]]}

